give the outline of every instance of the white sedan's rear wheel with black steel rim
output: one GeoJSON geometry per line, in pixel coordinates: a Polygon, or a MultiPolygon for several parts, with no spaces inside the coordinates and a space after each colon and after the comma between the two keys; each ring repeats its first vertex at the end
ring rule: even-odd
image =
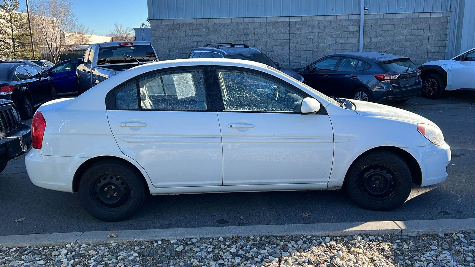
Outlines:
{"type": "Polygon", "coordinates": [[[142,175],[120,161],[97,162],[79,181],[79,199],[84,209],[103,221],[130,218],[142,206],[144,198],[142,175]]]}

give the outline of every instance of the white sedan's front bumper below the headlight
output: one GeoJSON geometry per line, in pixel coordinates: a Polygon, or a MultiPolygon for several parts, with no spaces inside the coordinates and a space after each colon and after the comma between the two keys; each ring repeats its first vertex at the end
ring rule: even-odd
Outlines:
{"type": "Polygon", "coordinates": [[[422,186],[441,183],[447,179],[447,165],[450,163],[450,146],[430,144],[428,146],[402,147],[418,161],[422,172],[422,186]]]}

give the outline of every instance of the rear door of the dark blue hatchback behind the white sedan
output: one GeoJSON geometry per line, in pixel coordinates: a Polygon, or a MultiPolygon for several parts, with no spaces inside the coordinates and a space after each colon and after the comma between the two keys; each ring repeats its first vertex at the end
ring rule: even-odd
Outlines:
{"type": "Polygon", "coordinates": [[[338,67],[332,72],[329,87],[331,96],[351,97],[355,86],[363,75],[364,61],[356,58],[342,57],[338,67]]]}

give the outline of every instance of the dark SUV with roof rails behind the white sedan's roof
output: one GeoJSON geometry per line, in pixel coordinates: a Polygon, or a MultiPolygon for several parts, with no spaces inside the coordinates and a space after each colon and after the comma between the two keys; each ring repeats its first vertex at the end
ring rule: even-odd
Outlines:
{"type": "Polygon", "coordinates": [[[279,63],[272,61],[264,53],[257,50],[256,48],[251,48],[244,44],[207,44],[204,47],[194,48],[191,50],[188,58],[234,58],[234,59],[244,59],[256,61],[259,63],[266,64],[270,67],[274,67],[283,73],[291,76],[292,78],[305,82],[304,78],[291,69],[285,69],[279,67],[279,63]]]}

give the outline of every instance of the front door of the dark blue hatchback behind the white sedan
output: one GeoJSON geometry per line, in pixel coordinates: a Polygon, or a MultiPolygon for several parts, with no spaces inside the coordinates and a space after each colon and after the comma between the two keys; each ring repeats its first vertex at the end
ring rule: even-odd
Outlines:
{"type": "Polygon", "coordinates": [[[306,84],[325,95],[331,95],[332,86],[330,78],[339,59],[340,57],[326,57],[310,66],[314,70],[310,71],[310,67],[306,68],[302,72],[306,84]]]}

